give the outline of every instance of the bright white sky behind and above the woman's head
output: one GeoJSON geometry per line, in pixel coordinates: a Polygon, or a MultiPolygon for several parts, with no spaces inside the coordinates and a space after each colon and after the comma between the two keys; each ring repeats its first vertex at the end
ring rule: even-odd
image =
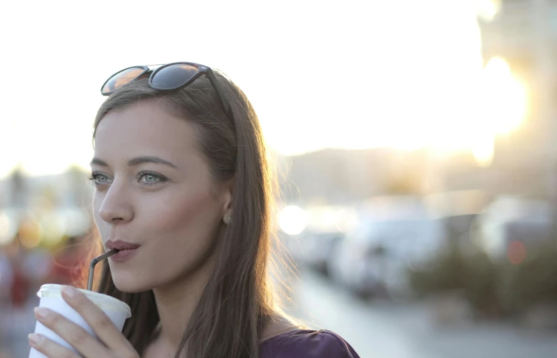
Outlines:
{"type": "Polygon", "coordinates": [[[470,147],[482,130],[474,1],[85,4],[3,4],[0,177],[88,167],[101,84],[140,64],[223,70],[282,154],[470,147]]]}

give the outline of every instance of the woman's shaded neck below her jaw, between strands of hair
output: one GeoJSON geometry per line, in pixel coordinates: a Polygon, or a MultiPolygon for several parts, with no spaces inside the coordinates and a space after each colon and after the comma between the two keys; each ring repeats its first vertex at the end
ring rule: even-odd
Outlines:
{"type": "Polygon", "coordinates": [[[160,318],[160,334],[157,340],[172,354],[178,350],[191,315],[198,306],[214,268],[214,260],[214,257],[210,258],[187,277],[153,289],[160,318]]]}

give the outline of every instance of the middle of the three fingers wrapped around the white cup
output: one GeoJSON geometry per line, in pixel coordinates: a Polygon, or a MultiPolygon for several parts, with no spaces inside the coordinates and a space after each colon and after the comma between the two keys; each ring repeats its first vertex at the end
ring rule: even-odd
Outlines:
{"type": "MultiPolygon", "coordinates": [[[[35,308],[37,320],[64,339],[85,357],[108,357],[107,348],[88,331],[71,322],[63,315],[45,307],[35,308]]],[[[59,356],[52,356],[59,357],[59,356]]]]}

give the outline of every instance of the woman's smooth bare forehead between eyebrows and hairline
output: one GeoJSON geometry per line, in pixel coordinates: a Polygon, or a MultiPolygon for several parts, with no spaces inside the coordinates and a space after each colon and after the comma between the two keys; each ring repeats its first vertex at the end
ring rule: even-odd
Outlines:
{"type": "Polygon", "coordinates": [[[95,156],[127,160],[131,156],[163,156],[167,160],[193,154],[195,126],[173,117],[154,100],[143,100],[105,115],[95,135],[95,156]]]}

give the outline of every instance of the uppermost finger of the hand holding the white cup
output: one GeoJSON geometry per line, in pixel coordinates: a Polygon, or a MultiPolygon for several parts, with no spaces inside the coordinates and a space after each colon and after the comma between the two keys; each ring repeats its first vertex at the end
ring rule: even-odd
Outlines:
{"type": "Polygon", "coordinates": [[[91,302],[80,290],[76,290],[70,286],[64,286],[62,289],[62,297],[64,297],[64,300],[83,317],[97,337],[105,343],[110,350],[116,352],[135,352],[133,345],[131,345],[126,337],[121,334],[121,331],[114,326],[114,323],[112,323],[103,310],[91,302]]]}

